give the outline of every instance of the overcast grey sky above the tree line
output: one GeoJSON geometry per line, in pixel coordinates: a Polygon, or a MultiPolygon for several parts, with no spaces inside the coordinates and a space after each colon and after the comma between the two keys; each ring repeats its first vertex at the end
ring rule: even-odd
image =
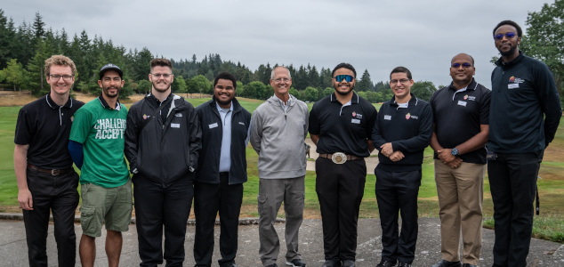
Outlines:
{"type": "Polygon", "coordinates": [[[450,83],[450,59],[469,53],[476,79],[491,88],[497,50],[492,30],[514,20],[525,30],[528,12],[553,0],[396,1],[3,1],[16,24],[40,12],[53,30],[83,29],[114,44],[180,60],[219,53],[250,69],[270,65],[331,68],[351,63],[359,76],[387,80],[391,69],[411,69],[415,81],[450,83]]]}

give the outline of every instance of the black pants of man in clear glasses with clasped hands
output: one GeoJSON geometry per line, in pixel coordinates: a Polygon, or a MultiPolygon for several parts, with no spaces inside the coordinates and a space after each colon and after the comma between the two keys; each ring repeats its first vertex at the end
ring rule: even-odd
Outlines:
{"type": "Polygon", "coordinates": [[[375,168],[376,200],[382,225],[382,259],[412,263],[417,243],[417,195],[421,171],[389,173],[375,168]],[[401,234],[398,214],[401,213],[401,234]]]}

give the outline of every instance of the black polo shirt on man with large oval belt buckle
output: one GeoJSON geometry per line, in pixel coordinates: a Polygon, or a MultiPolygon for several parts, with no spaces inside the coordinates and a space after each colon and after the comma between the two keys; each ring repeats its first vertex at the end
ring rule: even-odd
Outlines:
{"type": "Polygon", "coordinates": [[[316,151],[369,157],[368,140],[377,114],[375,107],[357,93],[346,105],[337,101],[334,93],[317,101],[310,111],[310,134],[319,135],[316,151]]]}

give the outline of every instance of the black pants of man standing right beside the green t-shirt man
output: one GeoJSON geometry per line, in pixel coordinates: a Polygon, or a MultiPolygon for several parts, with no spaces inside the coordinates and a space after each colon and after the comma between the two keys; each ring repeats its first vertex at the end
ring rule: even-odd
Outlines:
{"type": "Polygon", "coordinates": [[[165,266],[182,266],[186,224],[194,187],[188,177],[167,188],[133,175],[133,198],[140,266],[163,263],[163,225],[165,226],[165,266]]]}

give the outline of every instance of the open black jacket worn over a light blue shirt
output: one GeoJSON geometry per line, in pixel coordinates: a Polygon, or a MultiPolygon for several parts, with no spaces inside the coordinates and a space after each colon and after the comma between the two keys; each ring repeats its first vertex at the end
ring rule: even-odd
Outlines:
{"type": "MultiPolygon", "coordinates": [[[[251,113],[246,111],[234,98],[231,101],[231,167],[230,184],[246,182],[246,138],[251,113]]],[[[202,151],[198,160],[196,172],[197,182],[220,182],[220,156],[222,154],[223,124],[220,112],[217,110],[215,98],[196,108],[197,117],[202,125],[202,151]],[[217,126],[210,126],[217,124],[217,126]]]]}

